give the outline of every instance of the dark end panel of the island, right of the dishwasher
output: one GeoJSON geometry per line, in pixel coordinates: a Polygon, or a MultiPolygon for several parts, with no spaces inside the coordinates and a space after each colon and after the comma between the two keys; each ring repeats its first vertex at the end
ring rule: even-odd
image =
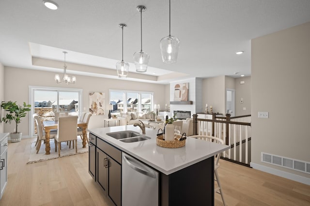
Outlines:
{"type": "Polygon", "coordinates": [[[160,173],[160,205],[214,205],[214,157],[170,175],[160,173]]]}

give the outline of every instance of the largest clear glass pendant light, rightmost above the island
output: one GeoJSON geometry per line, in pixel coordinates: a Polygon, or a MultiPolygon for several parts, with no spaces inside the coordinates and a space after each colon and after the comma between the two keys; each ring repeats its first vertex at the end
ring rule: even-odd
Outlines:
{"type": "Polygon", "coordinates": [[[171,24],[171,9],[169,0],[169,36],[166,36],[160,40],[160,51],[163,62],[166,64],[176,63],[178,58],[178,51],[180,47],[180,40],[175,36],[170,34],[170,24],[171,24]]]}

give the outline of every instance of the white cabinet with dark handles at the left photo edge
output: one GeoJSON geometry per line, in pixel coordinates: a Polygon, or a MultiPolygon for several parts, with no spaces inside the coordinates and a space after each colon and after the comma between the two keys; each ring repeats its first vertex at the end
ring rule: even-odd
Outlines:
{"type": "Polygon", "coordinates": [[[0,199],[8,181],[8,135],[9,133],[0,133],[0,199]]]}

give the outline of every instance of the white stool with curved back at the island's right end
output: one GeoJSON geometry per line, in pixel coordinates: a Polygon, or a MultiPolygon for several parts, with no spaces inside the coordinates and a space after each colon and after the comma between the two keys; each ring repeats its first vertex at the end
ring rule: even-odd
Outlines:
{"type": "MultiPolygon", "coordinates": [[[[209,141],[209,142],[214,142],[217,144],[222,144],[225,145],[224,140],[218,138],[218,137],[213,137],[213,136],[207,136],[207,135],[192,135],[190,136],[192,138],[196,138],[196,139],[201,139],[201,140],[205,140],[205,141],[209,141]]],[[[222,201],[223,201],[223,205],[225,206],[225,200],[224,200],[224,196],[223,196],[223,191],[222,191],[222,187],[221,187],[221,183],[219,181],[219,176],[218,176],[218,172],[217,169],[219,167],[219,159],[221,157],[222,152],[218,153],[217,155],[214,156],[214,174],[215,174],[215,179],[214,181],[217,182],[217,188],[214,189],[214,192],[217,192],[218,194],[221,195],[222,201]]]]}

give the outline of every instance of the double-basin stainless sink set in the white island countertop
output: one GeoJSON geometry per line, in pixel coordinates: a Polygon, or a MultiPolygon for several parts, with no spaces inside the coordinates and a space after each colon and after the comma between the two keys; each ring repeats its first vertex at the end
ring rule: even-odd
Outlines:
{"type": "Polygon", "coordinates": [[[106,134],[109,135],[110,137],[113,137],[126,143],[140,142],[143,140],[151,139],[151,137],[141,135],[139,132],[134,131],[109,132],[106,134]]]}

